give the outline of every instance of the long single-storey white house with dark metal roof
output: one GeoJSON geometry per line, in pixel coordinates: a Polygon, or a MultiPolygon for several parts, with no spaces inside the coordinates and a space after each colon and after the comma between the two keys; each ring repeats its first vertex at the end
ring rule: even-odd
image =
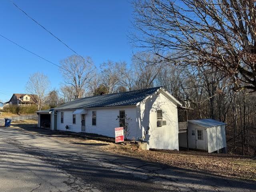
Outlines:
{"type": "Polygon", "coordinates": [[[80,98],[39,111],[38,126],[42,126],[40,116],[46,120],[48,114],[51,130],[114,137],[114,128],[128,121],[128,139],[147,142],[149,148],[178,150],[178,106],[182,104],[162,87],[134,90],[80,98]]]}

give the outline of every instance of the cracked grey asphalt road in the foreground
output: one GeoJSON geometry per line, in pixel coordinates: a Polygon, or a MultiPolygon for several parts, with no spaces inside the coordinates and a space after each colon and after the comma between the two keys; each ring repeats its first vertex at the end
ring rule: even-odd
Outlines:
{"type": "Polygon", "coordinates": [[[256,191],[256,182],[110,154],[51,134],[0,128],[0,192],[256,191]]]}

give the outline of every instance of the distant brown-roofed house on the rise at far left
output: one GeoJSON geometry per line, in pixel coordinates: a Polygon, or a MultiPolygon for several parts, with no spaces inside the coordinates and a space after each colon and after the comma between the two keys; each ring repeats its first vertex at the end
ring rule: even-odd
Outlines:
{"type": "Polygon", "coordinates": [[[36,95],[14,93],[8,103],[18,106],[30,106],[36,104],[36,95]]]}

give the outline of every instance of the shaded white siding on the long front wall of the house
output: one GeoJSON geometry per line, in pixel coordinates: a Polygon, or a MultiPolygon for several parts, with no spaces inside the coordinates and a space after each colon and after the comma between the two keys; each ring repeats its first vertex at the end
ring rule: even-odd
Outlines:
{"type": "MultiPolygon", "coordinates": [[[[85,115],[85,130],[87,133],[95,133],[104,136],[114,137],[114,128],[119,127],[119,122],[116,120],[119,115],[119,110],[125,110],[127,118],[130,118],[129,127],[130,134],[128,139],[137,138],[136,136],[136,106],[124,107],[106,107],[106,108],[91,108],[87,109],[85,115]],[[92,125],[92,111],[96,111],[96,126],[92,125]]],[[[57,116],[57,129],[66,130],[66,125],[70,126],[69,131],[81,132],[81,115],[76,115],[76,124],[72,124],[72,114],[74,110],[64,110],[64,120],[60,123],[60,111],[57,116]]]]}

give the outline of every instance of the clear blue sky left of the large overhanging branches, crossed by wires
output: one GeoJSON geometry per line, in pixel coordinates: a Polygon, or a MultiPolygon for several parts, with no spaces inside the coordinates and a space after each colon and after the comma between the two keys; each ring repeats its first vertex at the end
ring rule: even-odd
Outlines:
{"type": "MultiPolygon", "coordinates": [[[[13,0],[32,18],[96,66],[107,60],[131,62],[128,40],[132,30],[132,5],[128,0],[13,0]]],[[[0,1],[0,34],[28,50],[59,64],[72,55],[63,44],[18,10],[0,1]]],[[[30,74],[42,72],[58,88],[63,79],[58,67],[0,37],[0,100],[26,92],[30,74]]]]}

